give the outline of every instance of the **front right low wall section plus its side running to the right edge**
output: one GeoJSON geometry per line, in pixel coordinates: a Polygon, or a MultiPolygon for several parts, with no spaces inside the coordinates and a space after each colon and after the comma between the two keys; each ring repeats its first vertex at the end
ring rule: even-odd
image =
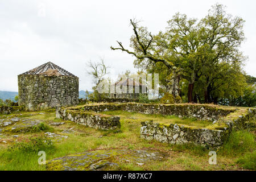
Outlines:
{"type": "MultiPolygon", "coordinates": [[[[240,112],[238,110],[238,112],[240,112]]],[[[226,127],[213,127],[211,129],[199,129],[177,124],[159,124],[153,122],[142,122],[141,138],[157,140],[171,144],[194,143],[203,146],[221,146],[232,129],[245,129],[255,127],[256,109],[247,109],[242,115],[230,113],[227,118],[231,120],[224,122],[226,127]],[[213,128],[213,129],[212,129],[213,128]]],[[[219,121],[221,122],[221,121],[219,121]]],[[[222,121],[223,122],[223,121],[222,121]]]]}

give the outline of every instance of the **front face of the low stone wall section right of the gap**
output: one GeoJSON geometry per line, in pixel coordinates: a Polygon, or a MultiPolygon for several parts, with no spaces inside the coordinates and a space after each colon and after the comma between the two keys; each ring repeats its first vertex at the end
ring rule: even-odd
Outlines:
{"type": "Polygon", "coordinates": [[[177,124],[161,125],[153,122],[142,122],[141,138],[158,142],[183,144],[194,143],[203,146],[221,146],[228,136],[226,130],[196,129],[177,124]]]}

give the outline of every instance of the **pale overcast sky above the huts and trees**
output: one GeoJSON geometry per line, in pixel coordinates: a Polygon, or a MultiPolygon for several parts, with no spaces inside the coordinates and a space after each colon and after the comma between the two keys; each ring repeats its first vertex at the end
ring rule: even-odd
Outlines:
{"type": "Polygon", "coordinates": [[[104,57],[111,73],[133,67],[133,57],[112,51],[116,40],[129,48],[133,34],[129,20],[143,20],[142,26],[156,34],[177,13],[203,18],[216,2],[227,6],[229,14],[246,20],[247,38],[241,51],[249,56],[245,71],[256,77],[256,2],[223,1],[11,1],[0,0],[0,90],[18,91],[17,75],[48,61],[80,79],[80,90],[92,90],[86,62],[104,57]]]}

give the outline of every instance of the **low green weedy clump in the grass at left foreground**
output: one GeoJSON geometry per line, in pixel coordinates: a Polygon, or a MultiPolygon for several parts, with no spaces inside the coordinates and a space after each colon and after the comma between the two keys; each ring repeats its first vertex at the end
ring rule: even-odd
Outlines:
{"type": "Polygon", "coordinates": [[[43,136],[31,137],[28,142],[15,143],[8,148],[8,151],[38,152],[54,150],[55,144],[51,139],[43,136]]]}

